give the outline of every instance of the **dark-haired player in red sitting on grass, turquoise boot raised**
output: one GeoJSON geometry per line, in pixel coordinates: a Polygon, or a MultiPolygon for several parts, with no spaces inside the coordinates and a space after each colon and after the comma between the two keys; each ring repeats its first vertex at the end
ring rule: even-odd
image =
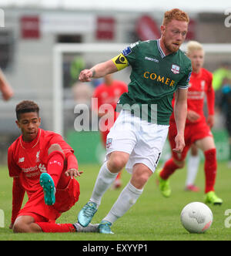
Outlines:
{"type": "Polygon", "coordinates": [[[16,106],[22,135],[8,148],[8,171],[14,177],[12,224],[18,233],[97,231],[96,225],[55,224],[62,212],[79,200],[80,176],[74,151],[57,133],[39,128],[39,106],[22,101],[16,106]],[[28,201],[22,207],[25,195],[28,201]]]}

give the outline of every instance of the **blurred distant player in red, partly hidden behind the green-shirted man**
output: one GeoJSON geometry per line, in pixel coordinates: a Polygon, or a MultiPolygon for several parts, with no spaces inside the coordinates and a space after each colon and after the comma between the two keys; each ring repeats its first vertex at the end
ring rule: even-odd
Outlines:
{"type": "MultiPolygon", "coordinates": [[[[106,115],[107,119],[109,118],[114,119],[113,123],[105,123],[105,125],[107,126],[107,130],[102,131],[102,129],[100,129],[99,127],[102,143],[104,147],[106,147],[106,140],[107,140],[109,131],[112,125],[115,123],[117,116],[119,115],[119,113],[115,112],[116,104],[118,103],[119,97],[122,95],[122,93],[127,93],[127,92],[128,92],[128,86],[126,85],[126,83],[113,79],[112,74],[105,76],[104,83],[100,84],[95,88],[93,98],[98,99],[98,102],[97,102],[97,106],[96,105],[92,106],[92,109],[98,113],[99,117],[106,115]],[[103,107],[104,104],[110,104],[113,108],[113,111],[107,111],[106,113],[99,113],[99,108],[102,110],[102,112],[105,112],[105,109],[107,109],[106,105],[104,109],[103,107]]],[[[118,188],[118,187],[121,187],[121,185],[122,185],[122,182],[121,182],[121,172],[120,172],[118,173],[115,179],[113,187],[118,188]]]]}

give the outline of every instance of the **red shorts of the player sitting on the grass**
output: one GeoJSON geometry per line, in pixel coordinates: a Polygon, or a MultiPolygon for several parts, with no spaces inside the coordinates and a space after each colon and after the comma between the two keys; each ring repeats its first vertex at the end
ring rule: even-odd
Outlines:
{"type": "Polygon", "coordinates": [[[69,211],[79,200],[79,194],[79,182],[70,179],[69,185],[65,189],[56,189],[55,204],[49,206],[45,204],[43,190],[38,190],[29,197],[18,216],[32,216],[35,222],[55,222],[63,212],[69,211]]]}

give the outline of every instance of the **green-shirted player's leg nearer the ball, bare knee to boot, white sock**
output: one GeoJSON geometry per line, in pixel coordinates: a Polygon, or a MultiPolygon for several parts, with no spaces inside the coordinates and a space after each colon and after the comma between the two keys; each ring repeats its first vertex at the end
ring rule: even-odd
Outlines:
{"type": "Polygon", "coordinates": [[[143,187],[152,175],[152,170],[143,163],[137,163],[133,167],[132,178],[126,187],[119,194],[118,199],[99,224],[99,233],[112,234],[111,226],[119,218],[126,214],[127,211],[136,204],[140,197],[143,187]]]}

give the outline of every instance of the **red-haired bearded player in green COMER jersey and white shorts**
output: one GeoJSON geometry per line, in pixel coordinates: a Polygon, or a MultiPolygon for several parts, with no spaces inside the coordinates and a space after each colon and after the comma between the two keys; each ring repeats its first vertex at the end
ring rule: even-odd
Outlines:
{"type": "Polygon", "coordinates": [[[136,203],[159,162],[169,130],[175,92],[178,133],[174,150],[182,152],[192,67],[179,47],[186,39],[188,24],[186,12],[172,9],[164,15],[160,39],[136,42],[114,59],[80,72],[79,80],[89,82],[126,66],[132,67],[129,92],[120,97],[118,106],[122,110],[107,136],[107,160],[99,170],[92,197],[78,215],[83,227],[92,220],[103,194],[123,167],[132,173],[131,180],[99,224],[99,232],[112,234],[112,224],[136,203]]]}

